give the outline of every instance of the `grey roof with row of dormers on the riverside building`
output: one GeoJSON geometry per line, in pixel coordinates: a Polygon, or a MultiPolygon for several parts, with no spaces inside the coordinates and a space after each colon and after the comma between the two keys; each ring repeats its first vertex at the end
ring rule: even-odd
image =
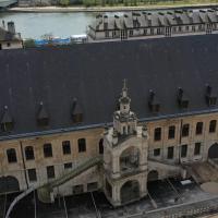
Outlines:
{"type": "Polygon", "coordinates": [[[126,12],[123,15],[97,15],[90,25],[95,31],[122,29],[122,28],[146,28],[169,25],[193,25],[201,23],[217,23],[218,10],[169,10],[161,12],[126,12]],[[116,20],[116,22],[114,22],[116,20]],[[136,21],[136,22],[134,22],[136,21]],[[137,24],[138,25],[135,25],[137,24]]]}

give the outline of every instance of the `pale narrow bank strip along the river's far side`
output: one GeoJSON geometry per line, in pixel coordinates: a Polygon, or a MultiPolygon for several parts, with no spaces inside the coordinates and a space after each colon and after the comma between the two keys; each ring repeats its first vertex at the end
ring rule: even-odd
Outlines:
{"type": "Polygon", "coordinates": [[[138,7],[26,7],[26,8],[11,8],[8,12],[26,12],[26,13],[57,13],[57,12],[122,12],[122,11],[141,11],[141,10],[168,10],[168,9],[204,9],[210,7],[218,7],[217,3],[199,3],[199,4],[153,4],[138,7]]]}

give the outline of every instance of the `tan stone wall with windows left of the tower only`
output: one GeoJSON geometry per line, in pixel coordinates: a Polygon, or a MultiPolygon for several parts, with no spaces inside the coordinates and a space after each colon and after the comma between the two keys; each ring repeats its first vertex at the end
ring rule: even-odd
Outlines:
{"type": "MultiPolygon", "coordinates": [[[[28,185],[43,185],[47,183],[47,166],[55,166],[56,178],[61,177],[65,172],[63,165],[66,162],[72,162],[72,167],[75,168],[80,162],[83,162],[90,157],[95,157],[99,154],[98,144],[101,138],[102,129],[85,130],[80,132],[63,133],[57,135],[48,135],[43,137],[33,138],[22,138],[20,141],[7,141],[0,143],[0,177],[13,175],[20,182],[20,189],[25,190],[28,185]],[[86,138],[86,152],[78,153],[77,140],[86,138]],[[71,142],[71,154],[63,155],[62,142],[71,142]],[[44,157],[44,144],[51,143],[52,145],[52,157],[44,157]],[[35,159],[26,160],[24,149],[26,146],[34,147],[35,159]],[[7,158],[7,149],[15,148],[17,162],[9,164],[7,158]],[[23,158],[22,158],[23,149],[23,158]],[[26,170],[25,170],[26,169],[26,170]],[[36,169],[37,182],[29,182],[27,170],[36,169]],[[25,179],[26,171],[26,179],[25,179]],[[27,180],[27,181],[26,181],[27,180]]],[[[96,170],[94,170],[96,171],[96,170]]],[[[93,172],[92,172],[93,173],[93,172]]],[[[94,173],[93,173],[94,174],[94,173]]],[[[82,178],[83,174],[81,175],[82,178]]],[[[96,173],[96,178],[98,173],[96,173]]],[[[97,180],[95,177],[94,181],[97,180]]],[[[84,179],[80,180],[76,178],[74,180],[74,185],[76,183],[87,185],[84,179]]],[[[68,185],[68,184],[66,184],[68,185]]]]}

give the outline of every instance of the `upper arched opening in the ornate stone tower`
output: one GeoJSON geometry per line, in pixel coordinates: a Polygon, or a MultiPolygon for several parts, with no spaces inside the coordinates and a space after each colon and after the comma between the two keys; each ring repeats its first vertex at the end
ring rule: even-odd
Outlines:
{"type": "Polygon", "coordinates": [[[120,156],[120,170],[130,171],[138,168],[140,149],[137,147],[126,148],[120,156]]]}

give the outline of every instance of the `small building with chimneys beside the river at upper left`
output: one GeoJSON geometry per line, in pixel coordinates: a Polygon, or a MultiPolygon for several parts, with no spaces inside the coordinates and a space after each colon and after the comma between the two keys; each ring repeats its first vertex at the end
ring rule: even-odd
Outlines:
{"type": "Polygon", "coordinates": [[[5,23],[2,21],[2,26],[0,26],[0,50],[19,48],[23,48],[21,34],[15,32],[15,25],[13,22],[8,22],[7,29],[5,23]]]}

